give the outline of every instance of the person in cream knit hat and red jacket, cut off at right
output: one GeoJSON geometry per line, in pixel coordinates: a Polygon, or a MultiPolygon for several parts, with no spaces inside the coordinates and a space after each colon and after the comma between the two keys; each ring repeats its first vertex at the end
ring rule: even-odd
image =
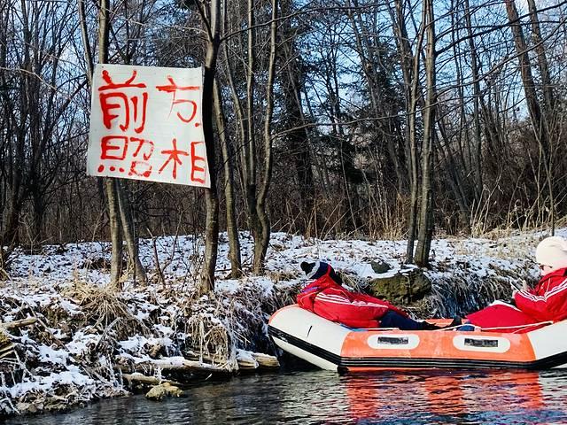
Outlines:
{"type": "Polygon", "coordinates": [[[522,333],[567,319],[567,240],[550,236],[535,251],[540,282],[515,290],[512,304],[495,302],[467,316],[470,323],[494,332],[522,333]]]}

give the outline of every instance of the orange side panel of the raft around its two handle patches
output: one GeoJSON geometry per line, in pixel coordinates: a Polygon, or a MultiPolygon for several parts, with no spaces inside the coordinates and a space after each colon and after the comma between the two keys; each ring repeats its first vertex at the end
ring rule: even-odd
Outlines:
{"type": "Polygon", "coordinates": [[[397,357],[400,359],[471,359],[471,360],[503,360],[503,361],[532,361],[535,359],[532,344],[526,334],[499,334],[482,332],[454,332],[447,331],[366,331],[350,332],[343,343],[340,353],[343,358],[381,359],[397,357]],[[414,349],[374,349],[368,344],[372,335],[397,336],[416,335],[419,345],[414,349]],[[457,335],[483,336],[486,338],[503,337],[509,340],[510,348],[507,352],[479,352],[473,350],[459,350],[453,344],[457,335]]]}

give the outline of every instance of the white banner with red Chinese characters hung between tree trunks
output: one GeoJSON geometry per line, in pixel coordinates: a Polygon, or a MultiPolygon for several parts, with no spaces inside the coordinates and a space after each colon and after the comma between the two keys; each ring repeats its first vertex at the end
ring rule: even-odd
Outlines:
{"type": "Polygon", "coordinates": [[[211,186],[202,68],[97,65],[87,173],[211,186]]]}

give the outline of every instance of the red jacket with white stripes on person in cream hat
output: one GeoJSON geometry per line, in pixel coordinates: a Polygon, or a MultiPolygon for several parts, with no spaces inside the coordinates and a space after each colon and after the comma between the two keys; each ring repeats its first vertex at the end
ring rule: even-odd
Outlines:
{"type": "Polygon", "coordinates": [[[563,321],[567,318],[567,268],[546,274],[532,290],[518,291],[514,301],[538,321],[563,321]]]}

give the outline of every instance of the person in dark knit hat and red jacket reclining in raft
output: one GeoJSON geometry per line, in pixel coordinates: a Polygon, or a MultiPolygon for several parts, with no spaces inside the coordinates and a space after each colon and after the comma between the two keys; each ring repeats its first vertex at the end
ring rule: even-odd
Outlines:
{"type": "Polygon", "coordinates": [[[342,286],[342,279],[330,264],[301,263],[307,278],[314,279],[298,295],[299,306],[329,321],[350,328],[438,329],[427,321],[414,321],[408,313],[382,299],[354,293],[342,286]]]}

